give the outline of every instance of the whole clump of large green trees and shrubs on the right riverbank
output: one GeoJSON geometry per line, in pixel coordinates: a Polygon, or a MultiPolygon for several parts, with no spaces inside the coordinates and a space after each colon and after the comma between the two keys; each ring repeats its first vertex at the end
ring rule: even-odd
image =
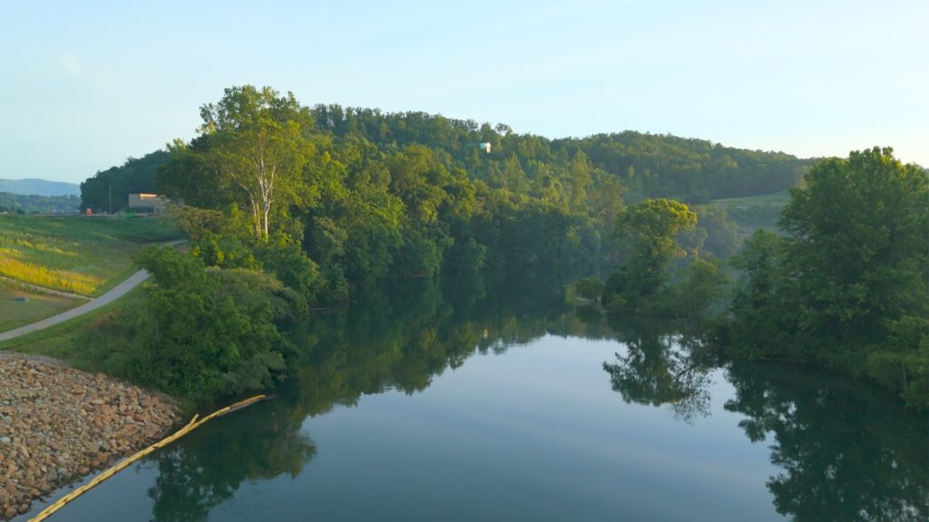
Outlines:
{"type": "Polygon", "coordinates": [[[892,150],[814,166],[781,227],[734,259],[731,351],[864,373],[929,406],[929,176],[892,150]]]}

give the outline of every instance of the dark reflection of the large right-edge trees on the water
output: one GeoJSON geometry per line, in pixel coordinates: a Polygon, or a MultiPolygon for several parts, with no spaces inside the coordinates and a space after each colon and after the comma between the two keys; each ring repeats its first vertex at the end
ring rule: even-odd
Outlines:
{"type": "Polygon", "coordinates": [[[733,364],[726,410],[772,439],[767,488],[798,522],[929,520],[929,423],[868,383],[796,366],[733,364]]]}

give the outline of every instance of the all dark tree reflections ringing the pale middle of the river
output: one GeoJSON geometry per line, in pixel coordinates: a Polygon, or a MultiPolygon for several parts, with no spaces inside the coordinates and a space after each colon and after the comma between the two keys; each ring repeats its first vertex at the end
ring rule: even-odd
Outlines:
{"type": "MultiPolygon", "coordinates": [[[[798,521],[925,520],[929,429],[894,398],[805,368],[729,364],[725,373],[697,339],[661,323],[603,320],[575,307],[569,275],[522,273],[449,281],[398,281],[310,318],[292,334],[297,370],[275,400],[221,419],[144,465],[155,520],[203,520],[243,482],[296,476],[317,448],[307,417],[364,395],[425,390],[478,353],[503,353],[545,334],[622,343],[603,362],[626,403],[670,408],[694,423],[710,414],[712,375],[735,389],[726,410],[744,415],[752,442],[770,444],[779,468],[767,488],[798,521]],[[622,352],[622,353],[621,353],[622,352]]],[[[606,385],[606,384],[605,384],[606,385]]]]}

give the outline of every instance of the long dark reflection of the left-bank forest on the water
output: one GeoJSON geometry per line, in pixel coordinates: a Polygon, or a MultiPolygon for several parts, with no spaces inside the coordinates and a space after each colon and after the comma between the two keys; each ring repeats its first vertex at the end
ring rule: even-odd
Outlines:
{"type": "Polygon", "coordinates": [[[307,416],[387,388],[422,391],[434,375],[475,353],[528,342],[550,324],[566,332],[588,329],[573,319],[558,281],[532,272],[488,282],[476,276],[444,284],[399,281],[360,295],[352,307],[308,319],[290,333],[298,363],[274,400],[206,424],[145,461],[158,474],[148,491],[154,519],[203,520],[245,481],[298,475],[316,454],[301,429],[307,416]],[[497,291],[486,293],[485,284],[497,291]]]}

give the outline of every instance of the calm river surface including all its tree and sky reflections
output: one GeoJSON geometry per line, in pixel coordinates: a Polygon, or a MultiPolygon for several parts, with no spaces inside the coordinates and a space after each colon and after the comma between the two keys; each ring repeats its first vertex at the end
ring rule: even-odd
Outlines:
{"type": "Polygon", "coordinates": [[[895,398],[569,297],[530,274],[369,292],[294,333],[276,398],[51,519],[929,518],[929,423],[895,398]]]}

